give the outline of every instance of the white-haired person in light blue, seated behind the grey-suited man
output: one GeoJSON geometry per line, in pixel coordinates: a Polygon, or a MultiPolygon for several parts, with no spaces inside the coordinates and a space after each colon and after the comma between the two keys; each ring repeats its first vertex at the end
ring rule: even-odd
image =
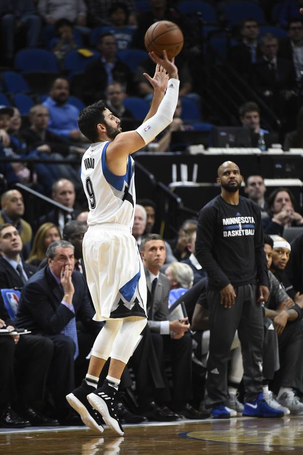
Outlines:
{"type": "Polygon", "coordinates": [[[165,269],[165,275],[169,280],[170,291],[168,307],[176,302],[193,285],[194,272],[188,264],[182,262],[171,262],[165,269]]]}

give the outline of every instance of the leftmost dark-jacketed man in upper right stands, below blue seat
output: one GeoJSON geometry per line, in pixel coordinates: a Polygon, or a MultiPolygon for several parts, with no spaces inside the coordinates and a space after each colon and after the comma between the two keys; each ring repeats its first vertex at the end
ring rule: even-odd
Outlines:
{"type": "Polygon", "coordinates": [[[244,19],[240,24],[241,39],[229,48],[228,61],[237,73],[248,78],[251,65],[260,57],[258,45],[259,26],[255,19],[244,19]]]}

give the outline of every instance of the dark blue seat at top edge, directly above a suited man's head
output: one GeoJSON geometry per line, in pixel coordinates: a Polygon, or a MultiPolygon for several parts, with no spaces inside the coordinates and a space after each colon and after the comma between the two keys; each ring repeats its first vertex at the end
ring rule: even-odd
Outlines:
{"type": "Polygon", "coordinates": [[[262,8],[252,2],[227,2],[222,5],[221,10],[229,26],[238,24],[248,17],[255,19],[259,24],[266,22],[262,8]]]}

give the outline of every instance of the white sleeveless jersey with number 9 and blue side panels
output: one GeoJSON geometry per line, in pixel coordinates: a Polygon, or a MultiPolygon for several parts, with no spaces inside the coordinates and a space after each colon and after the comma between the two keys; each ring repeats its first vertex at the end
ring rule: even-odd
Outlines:
{"type": "Polygon", "coordinates": [[[81,180],[90,208],[88,224],[118,223],[132,228],[136,205],[134,160],[128,155],[126,174],[113,174],[105,161],[108,144],[92,144],[82,157],[81,180]]]}

